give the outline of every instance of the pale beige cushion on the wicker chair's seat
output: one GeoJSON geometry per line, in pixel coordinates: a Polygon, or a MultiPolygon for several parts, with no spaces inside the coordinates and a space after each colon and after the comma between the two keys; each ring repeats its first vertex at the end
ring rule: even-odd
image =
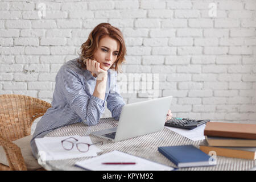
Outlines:
{"type": "MultiPolygon", "coordinates": [[[[27,137],[14,140],[13,143],[15,143],[20,148],[25,164],[27,166],[27,169],[36,170],[36,169],[42,168],[42,166],[38,164],[38,161],[34,158],[32,154],[32,150],[30,147],[31,139],[32,139],[32,135],[28,135],[27,137]]],[[[6,158],[5,150],[3,150],[2,146],[0,146],[0,163],[6,166],[9,166],[9,162],[6,158]]]]}

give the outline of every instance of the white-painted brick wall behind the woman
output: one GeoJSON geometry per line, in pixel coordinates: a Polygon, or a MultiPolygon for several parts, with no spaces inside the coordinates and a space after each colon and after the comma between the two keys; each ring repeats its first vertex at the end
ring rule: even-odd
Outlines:
{"type": "MultiPolygon", "coordinates": [[[[0,94],[51,102],[61,65],[109,22],[126,39],[123,74],[158,73],[157,92],[174,96],[175,116],[255,123],[255,11],[253,0],[2,0],[0,94]]],[[[126,103],[148,99],[139,89],[122,95],[126,103]]]]}

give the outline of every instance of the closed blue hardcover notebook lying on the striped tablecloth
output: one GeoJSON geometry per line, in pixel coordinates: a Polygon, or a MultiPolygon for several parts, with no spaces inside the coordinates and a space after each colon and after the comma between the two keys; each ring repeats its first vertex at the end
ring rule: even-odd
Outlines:
{"type": "Polygon", "coordinates": [[[214,166],[210,156],[192,145],[158,147],[177,167],[214,166]]]}

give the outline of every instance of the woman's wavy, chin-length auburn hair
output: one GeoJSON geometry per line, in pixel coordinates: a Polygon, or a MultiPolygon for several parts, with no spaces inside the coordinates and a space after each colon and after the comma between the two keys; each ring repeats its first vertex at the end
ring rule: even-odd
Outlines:
{"type": "Polygon", "coordinates": [[[81,53],[79,54],[80,57],[78,61],[81,64],[81,67],[86,69],[85,60],[93,59],[93,55],[98,49],[100,40],[105,36],[109,36],[110,38],[117,40],[117,42],[120,44],[117,60],[115,60],[110,69],[115,69],[117,72],[122,72],[121,64],[125,61],[126,55],[125,40],[123,39],[122,32],[118,28],[113,27],[110,23],[100,23],[93,29],[92,32],[90,32],[88,39],[80,48],[81,53]]]}

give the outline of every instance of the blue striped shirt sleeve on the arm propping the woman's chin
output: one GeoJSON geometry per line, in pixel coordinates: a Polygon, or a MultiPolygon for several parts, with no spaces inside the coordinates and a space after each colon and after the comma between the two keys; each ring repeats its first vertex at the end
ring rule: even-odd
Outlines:
{"type": "Polygon", "coordinates": [[[67,99],[69,106],[82,121],[88,125],[96,125],[104,113],[105,101],[95,96],[89,96],[82,85],[79,76],[72,70],[60,71],[59,86],[67,99]]]}

